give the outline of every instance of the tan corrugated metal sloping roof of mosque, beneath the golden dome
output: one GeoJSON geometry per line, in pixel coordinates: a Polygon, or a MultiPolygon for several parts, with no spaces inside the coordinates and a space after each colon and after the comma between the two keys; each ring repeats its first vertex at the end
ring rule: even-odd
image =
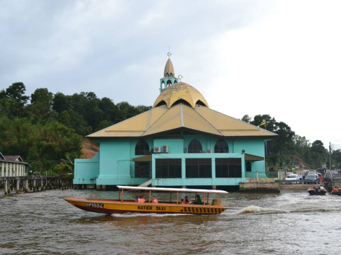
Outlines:
{"type": "Polygon", "coordinates": [[[100,130],[89,138],[123,138],[152,136],[170,130],[186,128],[214,136],[226,137],[266,137],[276,134],[256,127],[239,119],[216,112],[208,107],[192,107],[178,103],[170,107],[161,105],[151,110],[100,130]]]}

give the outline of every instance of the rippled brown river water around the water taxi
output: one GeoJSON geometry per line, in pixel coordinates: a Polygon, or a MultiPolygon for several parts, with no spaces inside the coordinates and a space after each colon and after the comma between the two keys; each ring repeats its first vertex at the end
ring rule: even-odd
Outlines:
{"type": "Polygon", "coordinates": [[[221,196],[228,210],[219,216],[107,216],[62,199],[117,195],[90,189],[0,193],[0,254],[341,254],[338,196],[229,193],[221,196]]]}

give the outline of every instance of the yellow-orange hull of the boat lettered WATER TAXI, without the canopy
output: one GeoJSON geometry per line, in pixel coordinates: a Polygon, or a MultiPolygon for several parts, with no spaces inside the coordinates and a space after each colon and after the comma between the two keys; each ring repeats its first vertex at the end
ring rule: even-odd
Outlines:
{"type": "Polygon", "coordinates": [[[225,206],[216,205],[197,205],[197,204],[152,204],[120,202],[118,200],[107,199],[80,199],[64,198],[68,203],[79,209],[105,214],[121,213],[160,213],[160,214],[220,214],[227,209],[225,206]]]}

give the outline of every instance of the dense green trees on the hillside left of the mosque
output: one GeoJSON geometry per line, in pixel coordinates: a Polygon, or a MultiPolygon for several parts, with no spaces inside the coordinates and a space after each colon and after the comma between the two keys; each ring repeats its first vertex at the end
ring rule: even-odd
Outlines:
{"type": "Polygon", "coordinates": [[[0,152],[20,155],[33,171],[69,172],[81,156],[82,137],[152,106],[114,103],[94,92],[64,95],[37,88],[30,96],[14,83],[0,91],[0,152]]]}

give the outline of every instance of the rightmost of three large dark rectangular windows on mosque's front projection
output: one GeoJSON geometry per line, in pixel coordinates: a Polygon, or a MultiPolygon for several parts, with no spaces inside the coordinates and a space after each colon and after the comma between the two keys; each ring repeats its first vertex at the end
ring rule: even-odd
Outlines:
{"type": "Polygon", "coordinates": [[[242,178],[242,159],[240,158],[216,158],[216,178],[242,178]]]}

